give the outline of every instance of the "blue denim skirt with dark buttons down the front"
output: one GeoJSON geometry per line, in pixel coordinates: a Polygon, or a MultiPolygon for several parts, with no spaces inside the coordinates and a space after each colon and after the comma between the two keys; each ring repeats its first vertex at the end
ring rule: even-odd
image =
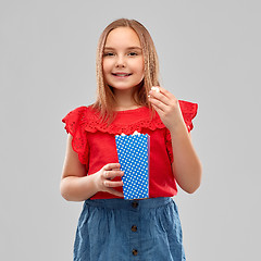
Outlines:
{"type": "Polygon", "coordinates": [[[86,200],[74,261],[184,261],[183,233],[173,198],[86,200]]]}

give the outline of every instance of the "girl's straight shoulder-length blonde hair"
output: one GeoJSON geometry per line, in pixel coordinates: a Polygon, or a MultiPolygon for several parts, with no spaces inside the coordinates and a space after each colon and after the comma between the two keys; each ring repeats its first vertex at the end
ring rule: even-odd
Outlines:
{"type": "Polygon", "coordinates": [[[133,99],[138,105],[148,107],[152,112],[152,116],[154,115],[154,109],[151,107],[148,100],[148,95],[152,86],[159,85],[158,54],[153,40],[145,26],[135,20],[127,18],[120,18],[109,24],[102,32],[98,41],[96,55],[97,99],[96,102],[91,105],[92,109],[98,110],[101,121],[107,122],[108,125],[111,124],[115,117],[113,111],[115,96],[103,77],[103,50],[108,35],[110,32],[119,27],[129,27],[134,29],[139,37],[144,55],[145,77],[141,82],[141,85],[138,88],[135,88],[133,99]]]}

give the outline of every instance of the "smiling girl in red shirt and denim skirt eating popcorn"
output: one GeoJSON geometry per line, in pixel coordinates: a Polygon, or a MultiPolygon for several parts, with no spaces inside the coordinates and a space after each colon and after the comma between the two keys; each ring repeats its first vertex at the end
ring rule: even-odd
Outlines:
{"type": "Polygon", "coordinates": [[[114,21],[98,44],[96,102],[63,119],[61,194],[84,201],[74,260],[186,260],[172,197],[176,182],[189,194],[200,185],[189,135],[198,107],[160,87],[158,67],[148,30],[134,20],[114,21]],[[150,136],[149,198],[124,200],[115,135],[135,130],[150,136]]]}

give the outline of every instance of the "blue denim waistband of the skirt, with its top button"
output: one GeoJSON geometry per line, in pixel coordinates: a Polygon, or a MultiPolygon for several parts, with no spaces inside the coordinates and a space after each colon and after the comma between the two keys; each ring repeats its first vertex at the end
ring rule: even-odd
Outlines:
{"type": "Polygon", "coordinates": [[[85,204],[90,207],[100,207],[108,209],[139,209],[139,208],[159,208],[165,206],[173,201],[171,197],[163,198],[149,198],[141,200],[125,200],[125,199],[87,199],[85,200],[85,204]]]}

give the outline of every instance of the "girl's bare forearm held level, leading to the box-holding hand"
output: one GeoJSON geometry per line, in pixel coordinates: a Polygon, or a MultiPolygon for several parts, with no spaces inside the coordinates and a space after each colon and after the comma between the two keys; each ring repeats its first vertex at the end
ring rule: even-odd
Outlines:
{"type": "Polygon", "coordinates": [[[67,176],[61,181],[61,195],[69,201],[84,201],[98,192],[96,175],[67,176]]]}

